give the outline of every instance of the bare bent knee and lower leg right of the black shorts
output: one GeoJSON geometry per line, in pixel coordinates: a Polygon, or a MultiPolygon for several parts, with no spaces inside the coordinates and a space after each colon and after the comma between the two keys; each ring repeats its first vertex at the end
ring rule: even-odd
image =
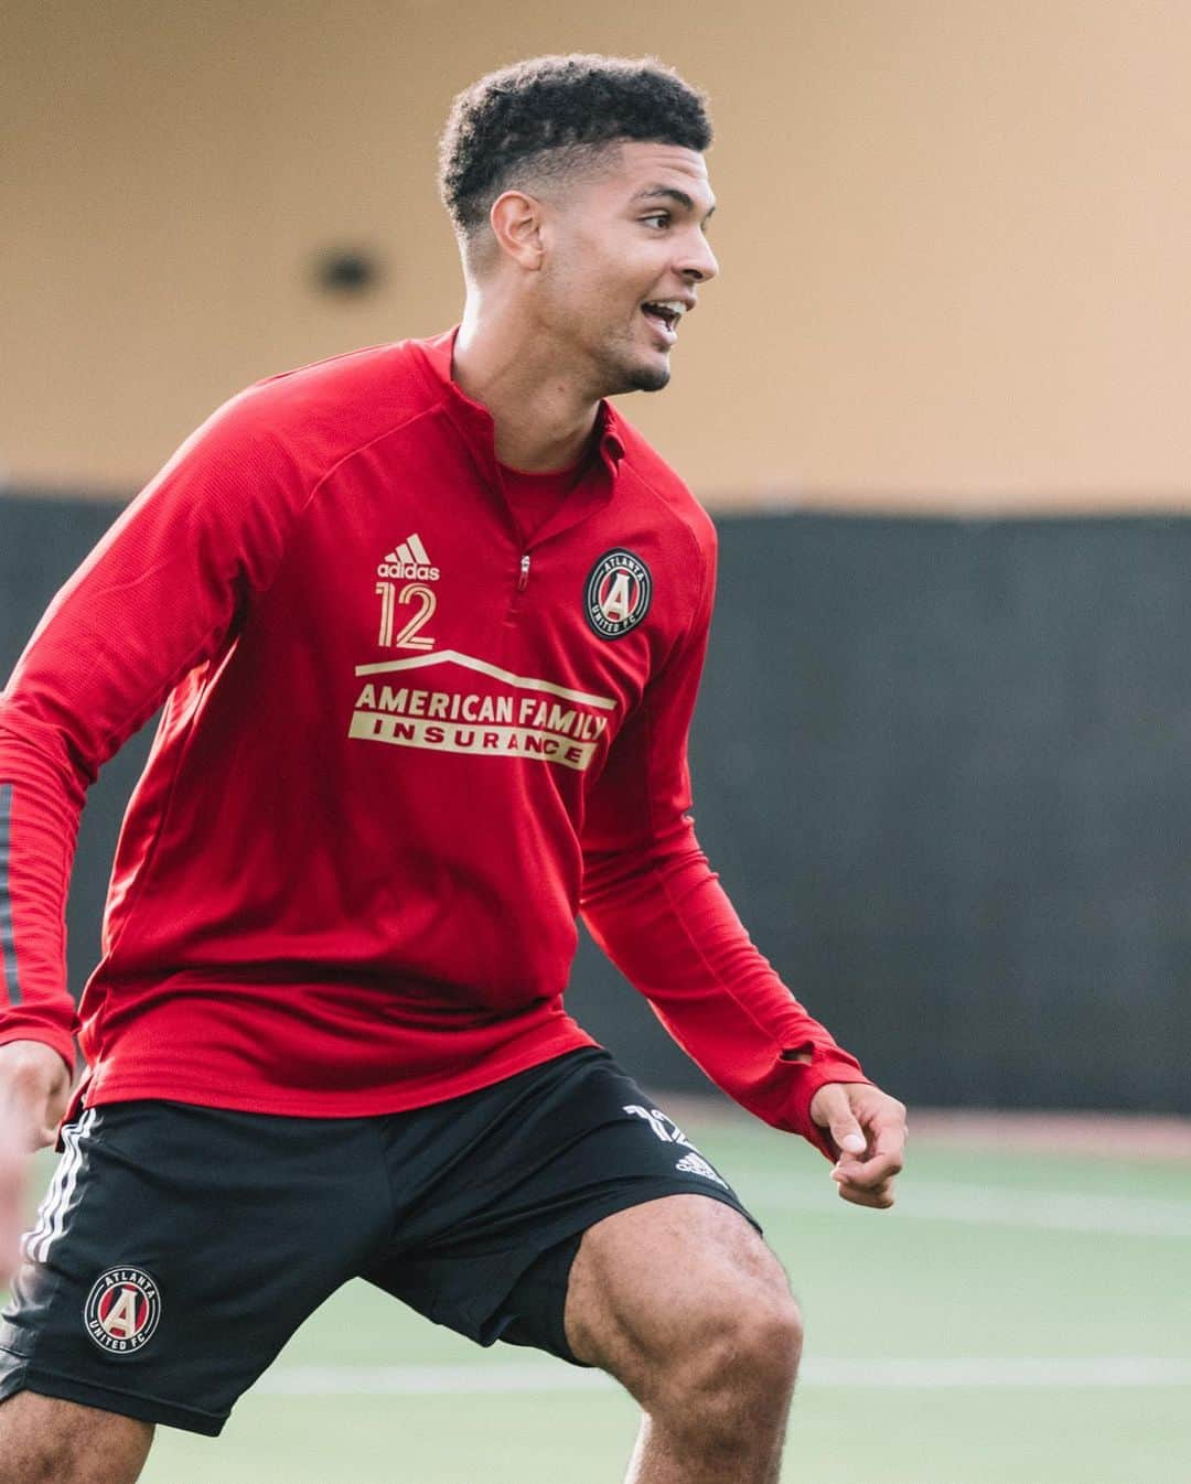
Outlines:
{"type": "Polygon", "coordinates": [[[738,1212],[674,1195],[596,1223],[566,1334],[645,1411],[627,1484],[777,1484],[802,1321],[738,1212]]]}

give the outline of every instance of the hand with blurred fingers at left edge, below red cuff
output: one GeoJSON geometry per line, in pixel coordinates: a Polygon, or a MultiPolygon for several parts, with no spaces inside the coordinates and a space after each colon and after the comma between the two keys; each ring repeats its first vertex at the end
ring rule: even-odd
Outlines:
{"type": "Polygon", "coordinates": [[[67,1064],[50,1046],[0,1046],[0,1282],[19,1261],[28,1156],[53,1143],[68,1097],[67,1064]]]}

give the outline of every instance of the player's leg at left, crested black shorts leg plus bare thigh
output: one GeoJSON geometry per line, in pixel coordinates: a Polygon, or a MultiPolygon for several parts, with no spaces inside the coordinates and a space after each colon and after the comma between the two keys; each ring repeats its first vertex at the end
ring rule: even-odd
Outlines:
{"type": "Polygon", "coordinates": [[[135,1101],[64,1143],[0,1315],[0,1484],[131,1484],[386,1238],[388,1175],[364,1119],[135,1101]]]}

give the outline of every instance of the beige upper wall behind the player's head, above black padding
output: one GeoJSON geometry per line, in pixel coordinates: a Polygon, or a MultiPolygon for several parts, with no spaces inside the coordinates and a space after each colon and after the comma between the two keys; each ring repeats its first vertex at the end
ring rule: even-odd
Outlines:
{"type": "Polygon", "coordinates": [[[4,13],[13,482],[134,488],[247,381],[450,324],[450,98],[585,49],[711,93],[722,278],[625,405],[708,503],[1191,503],[1188,0],[4,13]],[[355,242],[383,289],[321,297],[355,242]]]}

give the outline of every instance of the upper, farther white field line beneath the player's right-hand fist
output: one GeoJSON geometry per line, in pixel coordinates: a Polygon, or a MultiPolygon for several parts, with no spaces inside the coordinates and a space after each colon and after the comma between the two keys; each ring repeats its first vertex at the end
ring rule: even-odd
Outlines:
{"type": "MultiPolygon", "coordinates": [[[[842,1209],[833,1190],[815,1192],[800,1184],[778,1184],[772,1174],[737,1175],[745,1205],[760,1215],[771,1211],[842,1209]],[[741,1189],[741,1186],[744,1189],[741,1189]]],[[[827,1184],[827,1181],[823,1181],[827,1184]]],[[[1167,1236],[1191,1241],[1191,1201],[1161,1201],[1135,1196],[1096,1196],[1065,1190],[1020,1190],[1014,1186],[967,1186],[931,1181],[916,1184],[901,1178],[891,1212],[919,1221],[964,1221],[973,1226],[1017,1226],[1048,1232],[1096,1232],[1112,1236],[1167,1236]]]]}

